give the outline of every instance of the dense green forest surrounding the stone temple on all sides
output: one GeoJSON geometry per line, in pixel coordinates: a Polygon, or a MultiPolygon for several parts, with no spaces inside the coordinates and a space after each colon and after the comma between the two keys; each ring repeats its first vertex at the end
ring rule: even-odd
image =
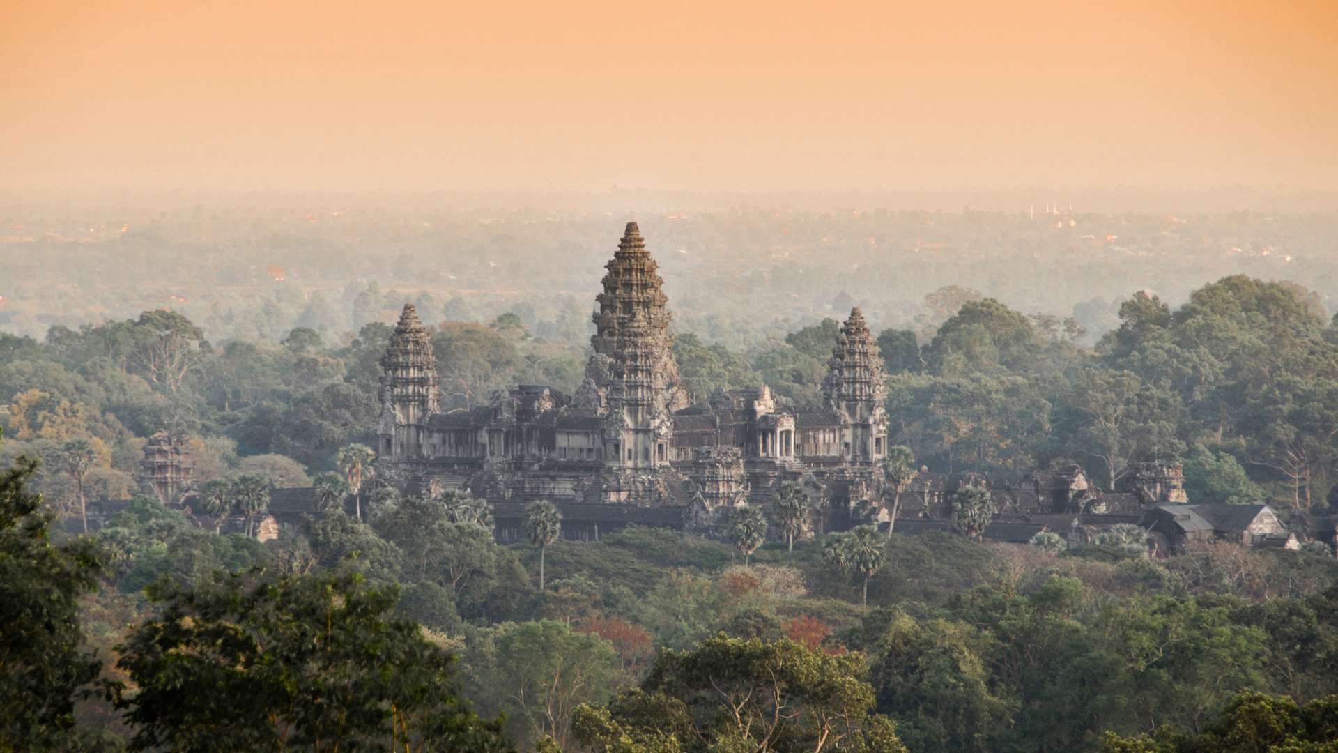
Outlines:
{"type": "MultiPolygon", "coordinates": [[[[931,326],[879,335],[892,443],[915,462],[1078,462],[1109,488],[1131,464],[1180,461],[1193,501],[1267,501],[1298,531],[1327,512],[1338,327],[1307,289],[1226,277],[1173,310],[1137,293],[1094,346],[1074,320],[965,288],[937,300],[931,326]]],[[[680,332],[674,354],[697,399],[765,382],[804,406],[835,328],[747,350],[680,332]]],[[[372,323],[215,343],[167,311],[0,336],[0,749],[1333,740],[1338,563],[1315,548],[1223,543],[1153,561],[1119,545],[856,531],[801,535],[791,551],[780,510],[760,545],[642,528],[570,543],[538,509],[534,544],[503,547],[486,500],[399,498],[375,478],[363,520],[332,504],[261,544],[136,496],[143,443],[162,429],[189,437],[219,515],[264,509],[274,486],[349,492],[341,450],[369,439],[388,336],[372,323]],[[78,535],[99,497],[135,498],[78,535]],[[64,521],[48,531],[45,515],[64,521]]],[[[585,358],[515,314],[442,322],[432,342],[460,407],[515,382],[571,390],[585,358]]]]}

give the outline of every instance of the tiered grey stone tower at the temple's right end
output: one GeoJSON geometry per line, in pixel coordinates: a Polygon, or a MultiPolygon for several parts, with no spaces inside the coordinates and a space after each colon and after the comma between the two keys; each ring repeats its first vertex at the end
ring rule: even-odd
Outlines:
{"type": "Polygon", "coordinates": [[[848,460],[878,462],[887,454],[883,376],[883,358],[864,324],[864,314],[852,308],[836,336],[823,381],[827,405],[842,418],[842,456],[848,460]]]}

